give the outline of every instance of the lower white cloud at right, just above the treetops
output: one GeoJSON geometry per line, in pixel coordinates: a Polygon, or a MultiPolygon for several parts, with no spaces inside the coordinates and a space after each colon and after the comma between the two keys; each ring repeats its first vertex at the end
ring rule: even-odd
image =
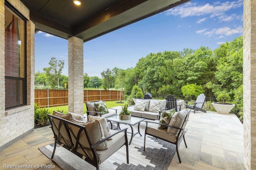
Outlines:
{"type": "Polygon", "coordinates": [[[234,29],[230,27],[221,27],[221,28],[214,28],[211,31],[205,32],[204,35],[211,37],[212,35],[220,35],[218,38],[223,38],[225,36],[230,36],[233,34],[243,33],[243,27],[239,26],[234,29]]]}

